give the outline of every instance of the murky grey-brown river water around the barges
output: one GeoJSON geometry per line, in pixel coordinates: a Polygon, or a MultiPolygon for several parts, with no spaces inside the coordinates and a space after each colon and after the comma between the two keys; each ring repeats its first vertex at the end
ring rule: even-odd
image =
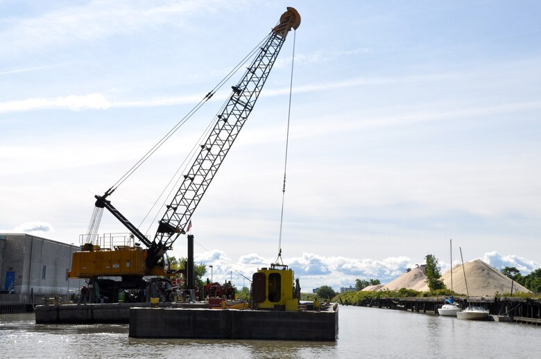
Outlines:
{"type": "MultiPolygon", "coordinates": [[[[541,327],[341,306],[336,342],[142,340],[128,324],[0,315],[0,358],[539,358],[541,327]]],[[[151,325],[151,323],[149,323],[151,325]]]]}

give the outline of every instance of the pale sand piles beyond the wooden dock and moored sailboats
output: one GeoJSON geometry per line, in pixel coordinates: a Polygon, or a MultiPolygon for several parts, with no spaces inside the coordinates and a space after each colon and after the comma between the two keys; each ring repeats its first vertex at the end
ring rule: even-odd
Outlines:
{"type": "MultiPolygon", "coordinates": [[[[504,274],[501,274],[496,268],[481,261],[481,259],[475,259],[474,261],[464,263],[464,270],[466,272],[467,289],[471,296],[492,296],[495,292],[504,293],[511,291],[512,280],[504,276],[504,274]]],[[[451,289],[451,270],[447,270],[447,272],[443,273],[442,279],[445,286],[451,289]]],[[[418,290],[428,291],[429,288],[426,283],[424,283],[424,286],[418,290]]],[[[462,270],[462,265],[460,264],[455,265],[453,268],[453,290],[456,293],[463,295],[467,294],[464,272],[462,270]]],[[[514,292],[530,291],[515,282],[513,283],[513,293],[514,292]]]]}

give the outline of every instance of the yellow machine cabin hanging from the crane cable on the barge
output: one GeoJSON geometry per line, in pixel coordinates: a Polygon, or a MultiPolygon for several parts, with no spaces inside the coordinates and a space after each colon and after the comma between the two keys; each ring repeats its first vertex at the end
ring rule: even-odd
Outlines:
{"type": "Polygon", "coordinates": [[[288,310],[299,308],[300,286],[287,265],[271,264],[252,276],[252,298],[257,309],[288,310]]]}

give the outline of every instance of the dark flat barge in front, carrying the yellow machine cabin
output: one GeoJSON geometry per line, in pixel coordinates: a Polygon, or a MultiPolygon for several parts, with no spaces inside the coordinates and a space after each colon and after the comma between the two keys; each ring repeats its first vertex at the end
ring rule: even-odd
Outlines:
{"type": "Polygon", "coordinates": [[[299,299],[293,270],[273,263],[253,274],[250,308],[131,308],[130,337],[336,340],[338,304],[310,308],[299,299]]]}

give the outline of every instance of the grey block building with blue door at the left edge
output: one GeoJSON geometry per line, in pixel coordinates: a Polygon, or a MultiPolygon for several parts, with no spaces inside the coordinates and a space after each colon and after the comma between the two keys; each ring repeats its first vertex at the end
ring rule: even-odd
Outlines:
{"type": "Polygon", "coordinates": [[[82,285],[68,279],[69,245],[30,234],[0,234],[0,303],[41,304],[42,297],[66,296],[82,285]]]}

